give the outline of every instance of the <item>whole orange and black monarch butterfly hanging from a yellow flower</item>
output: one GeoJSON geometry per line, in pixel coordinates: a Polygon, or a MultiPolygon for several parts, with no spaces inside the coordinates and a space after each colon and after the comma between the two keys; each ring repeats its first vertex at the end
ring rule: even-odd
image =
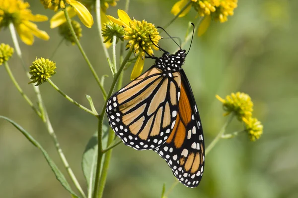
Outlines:
{"type": "Polygon", "coordinates": [[[164,53],[151,56],[154,65],[108,100],[109,124],[125,145],[154,150],[182,184],[194,188],[203,175],[205,148],[196,101],[181,68],[188,52],[159,49],[164,53]]]}

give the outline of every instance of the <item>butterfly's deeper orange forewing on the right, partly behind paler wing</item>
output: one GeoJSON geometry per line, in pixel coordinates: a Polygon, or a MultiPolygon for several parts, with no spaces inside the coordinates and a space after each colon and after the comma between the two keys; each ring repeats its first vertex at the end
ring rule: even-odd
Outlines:
{"type": "Polygon", "coordinates": [[[174,176],[185,186],[199,185],[205,163],[205,145],[201,119],[184,71],[176,124],[168,140],[154,149],[168,163],[174,176]]]}

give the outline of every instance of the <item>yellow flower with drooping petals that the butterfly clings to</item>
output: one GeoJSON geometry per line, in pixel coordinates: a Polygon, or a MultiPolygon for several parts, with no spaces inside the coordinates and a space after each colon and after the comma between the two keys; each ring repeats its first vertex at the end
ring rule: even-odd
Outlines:
{"type": "Polygon", "coordinates": [[[124,39],[128,40],[126,48],[133,50],[135,56],[139,55],[131,74],[131,79],[133,80],[140,76],[143,71],[145,51],[153,55],[153,49],[158,50],[154,44],[157,45],[161,37],[152,23],[148,23],[145,20],[132,20],[129,15],[121,9],[118,9],[118,16],[119,19],[109,15],[107,17],[114,23],[124,27],[124,39]],[[154,44],[150,41],[149,35],[154,44]]]}

